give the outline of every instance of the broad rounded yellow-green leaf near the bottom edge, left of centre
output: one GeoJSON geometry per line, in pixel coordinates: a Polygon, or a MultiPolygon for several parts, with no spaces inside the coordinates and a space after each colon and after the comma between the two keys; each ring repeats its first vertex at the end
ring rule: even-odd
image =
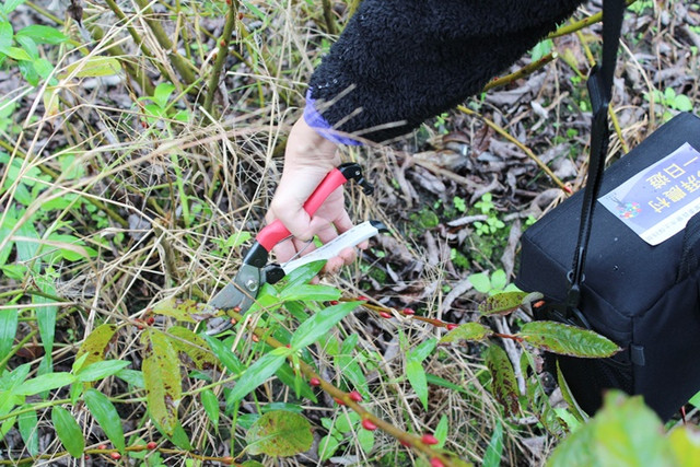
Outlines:
{"type": "Polygon", "coordinates": [[[311,448],[314,442],[311,423],[299,413],[275,410],[265,413],[245,436],[248,453],[289,457],[311,448]]]}

